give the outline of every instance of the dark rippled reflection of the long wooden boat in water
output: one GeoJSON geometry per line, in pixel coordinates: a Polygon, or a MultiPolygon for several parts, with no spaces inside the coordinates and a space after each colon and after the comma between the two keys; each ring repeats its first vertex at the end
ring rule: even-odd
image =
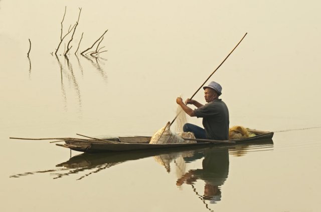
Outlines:
{"type": "MultiPolygon", "coordinates": [[[[209,151],[221,151],[221,149],[229,149],[229,154],[234,149],[242,150],[243,154],[250,151],[259,151],[263,148],[264,150],[270,150],[270,147],[273,146],[272,139],[267,140],[258,140],[253,142],[247,142],[245,144],[236,144],[232,146],[187,146],[182,148],[170,148],[170,149],[150,149],[146,150],[133,150],[133,151],[118,151],[118,152],[105,152],[105,153],[82,153],[76,156],[71,157],[69,160],[59,163],[56,166],[57,169],[50,170],[40,170],[40,171],[28,171],[25,173],[11,175],[10,177],[22,177],[35,173],[50,173],[51,175],[55,175],[54,178],[60,178],[67,175],[79,174],[83,173],[78,179],[82,179],[85,176],[91,175],[93,173],[97,173],[101,170],[109,168],[111,166],[120,164],[129,160],[138,160],[145,157],[153,156],[154,159],[161,165],[163,165],[168,172],[171,171],[170,163],[175,161],[176,165],[178,158],[183,157],[185,163],[189,163],[195,161],[197,159],[201,159],[204,157],[205,152],[209,151]],[[213,149],[213,150],[211,150],[213,149]],[[215,150],[216,149],[216,150],[215,150]],[[86,172],[86,173],[85,173],[86,172]]],[[[183,162],[184,162],[183,161],[183,162]]],[[[182,162],[182,161],[181,161],[182,162]]],[[[181,177],[185,170],[182,170],[180,176],[181,177]]]]}

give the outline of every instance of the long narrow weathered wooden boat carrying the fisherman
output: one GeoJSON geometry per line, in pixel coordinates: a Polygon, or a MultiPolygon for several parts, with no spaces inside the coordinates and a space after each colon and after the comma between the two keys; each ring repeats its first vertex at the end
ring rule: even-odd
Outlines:
{"type": "Polygon", "coordinates": [[[88,153],[98,152],[115,152],[115,151],[130,151],[130,150],[149,150],[149,149],[165,149],[165,148],[193,148],[207,145],[235,145],[239,143],[252,143],[271,140],[273,132],[259,131],[248,129],[249,132],[254,133],[255,136],[235,139],[235,140],[202,140],[199,139],[197,143],[166,143],[166,144],[149,144],[150,136],[127,136],[127,137],[107,137],[103,139],[82,139],[73,140],[65,139],[64,144],[56,144],[70,148],[75,151],[82,151],[88,153]]]}

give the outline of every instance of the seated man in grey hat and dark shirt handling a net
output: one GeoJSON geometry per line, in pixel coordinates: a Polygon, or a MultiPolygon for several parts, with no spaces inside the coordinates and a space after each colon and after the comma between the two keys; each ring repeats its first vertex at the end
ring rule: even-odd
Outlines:
{"type": "Polygon", "coordinates": [[[228,140],[229,139],[229,110],[219,98],[222,94],[222,86],[211,81],[208,86],[204,86],[205,105],[194,99],[187,99],[185,103],[181,97],[176,98],[176,102],[190,116],[202,117],[204,128],[195,124],[186,123],[183,127],[185,132],[193,132],[196,138],[228,140]],[[194,104],[197,108],[192,109],[188,104],[194,104]]]}

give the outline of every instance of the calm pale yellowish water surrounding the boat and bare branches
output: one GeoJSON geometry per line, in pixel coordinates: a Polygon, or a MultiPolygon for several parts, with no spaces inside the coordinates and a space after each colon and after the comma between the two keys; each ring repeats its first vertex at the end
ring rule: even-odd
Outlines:
{"type": "MultiPolygon", "coordinates": [[[[0,0],[0,210],[319,211],[320,9],[288,0],[0,0]],[[65,6],[63,35],[82,8],[67,58],[71,34],[52,55],[65,6]],[[74,54],[82,32],[80,50],[106,29],[108,51],[74,54]],[[223,86],[230,125],[275,131],[273,142],[88,155],[9,139],[152,135],[245,32],[211,80],[223,86]]],[[[204,101],[202,91],[195,99],[204,101]]]]}

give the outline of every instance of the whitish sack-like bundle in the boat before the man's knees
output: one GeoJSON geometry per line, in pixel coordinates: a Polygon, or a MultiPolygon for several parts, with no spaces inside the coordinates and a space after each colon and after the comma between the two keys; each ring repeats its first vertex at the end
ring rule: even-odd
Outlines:
{"type": "Polygon", "coordinates": [[[184,140],[185,138],[195,138],[192,132],[173,133],[170,129],[171,122],[168,122],[163,128],[159,129],[151,138],[150,144],[160,143],[196,143],[195,140],[184,140]]]}

